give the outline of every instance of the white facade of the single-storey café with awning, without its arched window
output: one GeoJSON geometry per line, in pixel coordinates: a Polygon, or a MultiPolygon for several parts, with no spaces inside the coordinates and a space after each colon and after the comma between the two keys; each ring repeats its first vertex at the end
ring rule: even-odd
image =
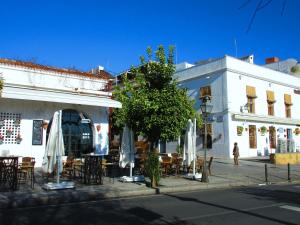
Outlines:
{"type": "Polygon", "coordinates": [[[27,67],[26,63],[15,65],[10,61],[0,63],[0,78],[4,80],[0,97],[0,155],[35,157],[36,166],[41,166],[47,129],[42,128],[42,142],[33,144],[33,121],[49,123],[57,110],[85,115],[90,121],[93,148],[102,144],[102,148],[108,149],[108,107],[121,107],[105,91],[108,80],[67,70],[63,73],[51,68],[27,67]],[[15,124],[16,120],[20,123],[15,124]],[[8,135],[9,129],[12,135],[8,135]],[[21,136],[21,142],[16,142],[17,135],[21,136]],[[103,143],[99,143],[99,136],[103,143]]]}

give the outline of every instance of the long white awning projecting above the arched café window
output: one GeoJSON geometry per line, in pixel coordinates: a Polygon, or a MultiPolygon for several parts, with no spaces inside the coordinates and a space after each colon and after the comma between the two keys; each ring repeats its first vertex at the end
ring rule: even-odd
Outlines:
{"type": "Polygon", "coordinates": [[[2,98],[122,108],[122,104],[120,102],[112,100],[109,96],[58,91],[52,89],[48,90],[5,86],[2,90],[2,98]]]}

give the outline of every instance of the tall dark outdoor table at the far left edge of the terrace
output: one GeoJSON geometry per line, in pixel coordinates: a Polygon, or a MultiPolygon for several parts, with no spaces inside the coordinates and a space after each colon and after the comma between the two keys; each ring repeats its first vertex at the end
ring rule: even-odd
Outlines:
{"type": "Polygon", "coordinates": [[[0,156],[0,189],[18,188],[18,156],[0,156]]]}

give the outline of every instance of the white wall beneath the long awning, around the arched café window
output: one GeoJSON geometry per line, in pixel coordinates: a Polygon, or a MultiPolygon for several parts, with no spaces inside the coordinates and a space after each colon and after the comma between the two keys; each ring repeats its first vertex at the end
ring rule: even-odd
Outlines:
{"type": "Polygon", "coordinates": [[[35,157],[36,166],[41,166],[46,146],[46,129],[43,130],[43,145],[32,145],[32,121],[41,119],[49,122],[54,112],[60,109],[74,109],[90,117],[94,124],[94,144],[96,125],[101,124],[101,131],[108,133],[106,108],[0,98],[0,112],[21,114],[20,134],[23,138],[20,144],[1,144],[0,154],[3,150],[9,150],[10,155],[35,157]]]}

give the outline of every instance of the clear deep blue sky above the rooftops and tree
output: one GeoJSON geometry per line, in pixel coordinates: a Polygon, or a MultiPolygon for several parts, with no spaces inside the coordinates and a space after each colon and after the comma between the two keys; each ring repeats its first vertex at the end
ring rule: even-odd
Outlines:
{"type": "Polygon", "coordinates": [[[257,64],[300,60],[300,1],[273,0],[247,33],[259,1],[1,0],[0,57],[118,73],[137,65],[147,46],[175,45],[177,62],[193,63],[235,56],[236,39],[237,55],[254,54],[257,64]]]}

